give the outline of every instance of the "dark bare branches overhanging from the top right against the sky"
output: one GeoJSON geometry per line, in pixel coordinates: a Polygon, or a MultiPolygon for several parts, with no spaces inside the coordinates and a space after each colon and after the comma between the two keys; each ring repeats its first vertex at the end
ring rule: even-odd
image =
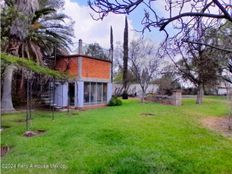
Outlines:
{"type": "MultiPolygon", "coordinates": [[[[182,33],[186,28],[196,25],[194,20],[198,17],[208,20],[208,23],[211,24],[220,24],[222,20],[232,22],[231,0],[89,0],[89,6],[98,14],[95,19],[103,19],[110,12],[130,14],[137,7],[143,8],[144,16],[141,18],[142,31],[146,29],[150,31],[154,27],[159,28],[160,31],[166,33],[166,39],[168,37],[175,38],[176,35],[182,33]],[[173,25],[175,32],[173,32],[173,27],[171,29],[167,27],[169,24],[173,25]]],[[[200,41],[197,44],[205,43],[200,41]]],[[[219,46],[216,47],[221,49],[219,46]]],[[[230,51],[232,52],[232,50],[230,51]]]]}

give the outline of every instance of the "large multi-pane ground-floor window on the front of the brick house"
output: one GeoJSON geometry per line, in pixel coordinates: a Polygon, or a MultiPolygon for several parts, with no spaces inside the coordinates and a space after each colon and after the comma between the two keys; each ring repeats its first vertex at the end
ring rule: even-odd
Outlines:
{"type": "Polygon", "coordinates": [[[84,103],[97,104],[107,101],[107,84],[99,82],[84,83],[84,103]]]}

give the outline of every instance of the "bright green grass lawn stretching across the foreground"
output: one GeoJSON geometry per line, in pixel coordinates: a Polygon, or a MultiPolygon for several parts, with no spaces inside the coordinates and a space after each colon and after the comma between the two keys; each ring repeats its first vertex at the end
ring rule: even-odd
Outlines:
{"type": "Polygon", "coordinates": [[[3,125],[11,127],[1,143],[11,150],[2,158],[2,173],[230,174],[232,139],[200,123],[227,114],[226,102],[215,97],[202,105],[185,99],[181,107],[128,100],[119,107],[55,113],[53,121],[51,113],[36,111],[32,129],[46,132],[31,138],[22,136],[25,123],[15,121],[24,113],[3,115],[3,125]]]}

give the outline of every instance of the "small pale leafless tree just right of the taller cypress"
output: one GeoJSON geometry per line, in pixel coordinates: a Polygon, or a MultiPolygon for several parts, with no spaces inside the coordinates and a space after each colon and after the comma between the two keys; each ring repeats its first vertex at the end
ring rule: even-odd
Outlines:
{"type": "Polygon", "coordinates": [[[131,71],[142,89],[141,102],[144,102],[148,85],[158,74],[160,59],[156,51],[154,43],[147,40],[134,40],[130,44],[131,71]]]}

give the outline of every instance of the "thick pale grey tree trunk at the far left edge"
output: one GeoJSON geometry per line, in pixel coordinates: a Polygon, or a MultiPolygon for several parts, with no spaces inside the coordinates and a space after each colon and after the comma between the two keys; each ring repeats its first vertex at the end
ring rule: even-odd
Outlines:
{"type": "Polygon", "coordinates": [[[13,73],[16,69],[14,65],[8,65],[4,71],[3,75],[3,89],[2,89],[2,106],[1,111],[4,112],[13,112],[15,111],[12,103],[12,80],[13,73]]]}

